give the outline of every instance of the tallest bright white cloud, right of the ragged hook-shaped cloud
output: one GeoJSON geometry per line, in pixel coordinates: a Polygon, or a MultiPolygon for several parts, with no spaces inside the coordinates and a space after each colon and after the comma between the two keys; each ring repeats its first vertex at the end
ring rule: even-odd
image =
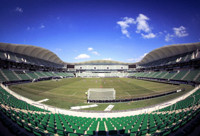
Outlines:
{"type": "Polygon", "coordinates": [[[137,22],[137,33],[140,33],[141,31],[144,31],[146,33],[151,32],[151,29],[147,23],[149,18],[145,16],[144,14],[139,14],[139,16],[136,19],[137,22]]]}

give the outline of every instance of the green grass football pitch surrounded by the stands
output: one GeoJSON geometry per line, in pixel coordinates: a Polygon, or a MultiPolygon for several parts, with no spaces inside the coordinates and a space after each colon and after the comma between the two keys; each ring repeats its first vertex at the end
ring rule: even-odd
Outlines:
{"type": "MultiPolygon", "coordinates": [[[[193,87],[189,85],[171,85],[130,78],[65,78],[58,81],[49,80],[12,85],[9,88],[35,101],[49,99],[43,103],[64,109],[70,109],[72,106],[90,105],[87,103],[87,96],[85,95],[85,92],[87,92],[89,88],[114,88],[116,90],[116,99],[150,96],[163,92],[185,89],[183,92],[160,98],[137,102],[112,103],[112,105],[115,105],[113,110],[127,110],[151,106],[173,99],[190,91],[193,87]]],[[[101,111],[108,105],[109,104],[98,104],[97,107],[85,110],[101,111]]]]}

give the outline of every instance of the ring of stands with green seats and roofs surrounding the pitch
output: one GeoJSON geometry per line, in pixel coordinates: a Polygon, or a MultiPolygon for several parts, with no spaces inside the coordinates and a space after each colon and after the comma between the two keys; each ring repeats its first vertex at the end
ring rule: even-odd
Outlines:
{"type": "Polygon", "coordinates": [[[0,120],[16,135],[188,135],[193,130],[188,124],[200,121],[200,43],[164,46],[133,64],[102,60],[72,64],[41,47],[0,43],[0,63],[0,120]],[[194,89],[148,108],[91,112],[41,104],[8,88],[76,77],[127,77],[194,89]]]}

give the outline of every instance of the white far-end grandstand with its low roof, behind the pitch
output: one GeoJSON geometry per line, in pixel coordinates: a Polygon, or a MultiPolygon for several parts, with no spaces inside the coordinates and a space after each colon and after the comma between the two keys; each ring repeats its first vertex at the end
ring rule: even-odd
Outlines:
{"type": "Polygon", "coordinates": [[[75,63],[77,77],[127,77],[128,64],[110,60],[75,63]]]}

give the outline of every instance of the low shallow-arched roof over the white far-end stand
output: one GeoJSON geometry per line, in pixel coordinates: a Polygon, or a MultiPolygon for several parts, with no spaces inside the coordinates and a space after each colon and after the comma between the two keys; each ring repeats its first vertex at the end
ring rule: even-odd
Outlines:
{"type": "Polygon", "coordinates": [[[79,63],[74,63],[75,65],[100,65],[100,64],[107,64],[107,65],[112,65],[112,64],[117,64],[117,65],[127,65],[129,63],[124,63],[124,62],[119,62],[119,61],[113,61],[113,60],[92,60],[92,61],[85,61],[85,62],[79,62],[79,63]]]}

